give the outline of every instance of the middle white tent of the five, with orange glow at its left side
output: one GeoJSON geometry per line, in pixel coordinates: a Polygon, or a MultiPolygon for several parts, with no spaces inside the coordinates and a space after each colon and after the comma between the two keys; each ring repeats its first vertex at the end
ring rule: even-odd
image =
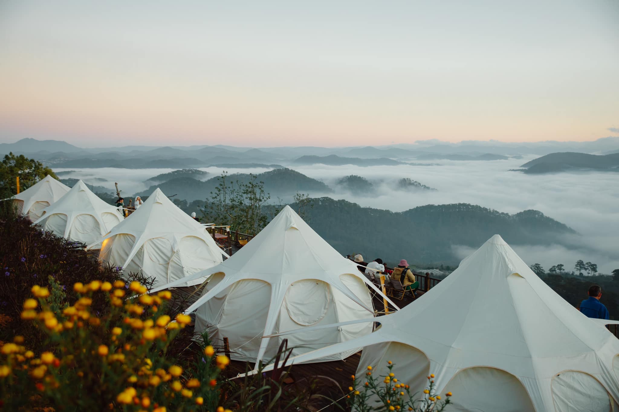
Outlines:
{"type": "MultiPolygon", "coordinates": [[[[98,243],[89,247],[95,248],[98,243]]],[[[141,271],[153,277],[157,285],[222,263],[222,253],[206,228],[157,188],[139,209],[103,237],[99,259],[123,267],[125,273],[141,271]]],[[[192,279],[183,285],[203,281],[192,279]]]]}

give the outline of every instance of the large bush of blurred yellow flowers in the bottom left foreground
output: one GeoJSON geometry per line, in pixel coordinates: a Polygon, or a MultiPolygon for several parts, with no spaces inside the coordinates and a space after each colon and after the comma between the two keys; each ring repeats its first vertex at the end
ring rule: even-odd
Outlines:
{"type": "Polygon", "coordinates": [[[50,284],[51,292],[35,285],[20,314],[45,332],[46,350],[28,350],[22,336],[2,345],[0,397],[7,410],[36,402],[69,410],[215,411],[225,401],[217,378],[230,362],[227,356],[206,346],[201,368],[188,373],[168,353],[171,340],[191,321],[184,314],[174,321],[162,314],[169,291],[142,295],[147,291],[138,282],[128,290],[121,280],[78,282],[72,286],[77,301],[69,306],[62,303],[63,288],[53,279],[50,284]],[[126,300],[128,295],[134,299],[126,300]],[[104,316],[92,313],[95,296],[110,306],[104,316]]]}

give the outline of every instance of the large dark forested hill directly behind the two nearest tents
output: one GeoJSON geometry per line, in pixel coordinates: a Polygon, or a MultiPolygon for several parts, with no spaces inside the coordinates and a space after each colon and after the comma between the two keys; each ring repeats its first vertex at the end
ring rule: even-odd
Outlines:
{"type": "Polygon", "coordinates": [[[361,253],[389,264],[457,264],[452,246],[478,248],[496,233],[513,245],[561,243],[576,233],[542,212],[508,214],[467,203],[428,204],[405,212],[361,208],[345,200],[319,198],[306,211],[311,227],[342,254],[361,253]]]}

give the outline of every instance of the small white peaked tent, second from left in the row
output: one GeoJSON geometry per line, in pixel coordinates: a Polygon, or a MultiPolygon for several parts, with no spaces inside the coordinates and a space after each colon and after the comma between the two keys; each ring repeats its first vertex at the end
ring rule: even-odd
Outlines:
{"type": "Polygon", "coordinates": [[[118,208],[105,203],[78,180],[63,197],[43,210],[35,224],[58,236],[89,245],[122,220],[118,208]]]}

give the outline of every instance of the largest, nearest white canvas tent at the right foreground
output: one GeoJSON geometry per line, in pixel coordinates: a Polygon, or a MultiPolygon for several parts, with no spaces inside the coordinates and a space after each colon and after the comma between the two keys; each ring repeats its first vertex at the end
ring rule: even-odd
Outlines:
{"type": "Polygon", "coordinates": [[[422,298],[371,320],[381,326],[370,335],[290,360],[363,346],[359,376],[392,361],[420,393],[434,373],[439,393],[453,393],[449,411],[617,410],[619,340],[602,325],[613,321],[582,315],[499,235],[422,298]]]}

